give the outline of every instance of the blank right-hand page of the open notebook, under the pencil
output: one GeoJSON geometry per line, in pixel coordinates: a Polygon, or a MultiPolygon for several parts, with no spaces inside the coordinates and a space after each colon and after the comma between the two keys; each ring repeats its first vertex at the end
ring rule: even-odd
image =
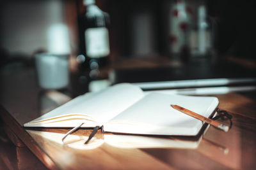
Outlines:
{"type": "Polygon", "coordinates": [[[218,106],[216,97],[152,93],[104,125],[106,132],[195,136],[203,122],[173,109],[177,104],[209,117],[218,106]]]}

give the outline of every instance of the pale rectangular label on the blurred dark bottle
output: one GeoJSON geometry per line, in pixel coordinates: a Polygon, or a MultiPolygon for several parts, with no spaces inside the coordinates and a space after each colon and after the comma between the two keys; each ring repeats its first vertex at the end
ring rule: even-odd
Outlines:
{"type": "Polygon", "coordinates": [[[109,55],[109,38],[106,27],[86,29],[84,36],[88,57],[99,58],[109,55]]]}

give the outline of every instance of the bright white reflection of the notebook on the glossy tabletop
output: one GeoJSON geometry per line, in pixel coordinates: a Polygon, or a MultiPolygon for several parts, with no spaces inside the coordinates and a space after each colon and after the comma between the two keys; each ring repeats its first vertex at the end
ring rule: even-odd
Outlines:
{"type": "Polygon", "coordinates": [[[163,138],[151,136],[133,136],[118,134],[103,134],[102,138],[92,138],[90,142],[84,145],[88,136],[78,136],[70,134],[65,141],[62,141],[63,134],[55,132],[31,131],[28,133],[36,138],[44,138],[58,143],[63,147],[74,148],[77,150],[92,150],[100,147],[104,143],[116,148],[197,148],[202,136],[196,139],[163,138]]]}

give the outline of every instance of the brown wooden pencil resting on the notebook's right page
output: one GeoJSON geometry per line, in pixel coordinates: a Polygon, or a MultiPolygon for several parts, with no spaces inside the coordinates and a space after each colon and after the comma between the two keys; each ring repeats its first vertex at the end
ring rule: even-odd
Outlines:
{"type": "Polygon", "coordinates": [[[211,118],[207,118],[207,117],[203,117],[202,115],[199,115],[198,113],[195,113],[191,110],[187,110],[186,108],[182,108],[181,106],[178,106],[176,104],[171,104],[172,108],[174,108],[175,110],[178,110],[182,113],[185,113],[186,115],[189,115],[193,118],[196,118],[198,120],[201,120],[202,122],[205,122],[207,124],[210,124],[214,127],[217,127],[219,129],[221,129],[222,131],[227,132],[229,127],[227,125],[223,125],[220,124],[219,122],[216,122],[215,120],[212,120],[211,118]]]}

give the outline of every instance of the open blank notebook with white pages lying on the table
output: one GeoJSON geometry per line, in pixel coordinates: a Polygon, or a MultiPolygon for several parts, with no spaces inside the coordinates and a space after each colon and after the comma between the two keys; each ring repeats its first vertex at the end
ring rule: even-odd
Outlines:
{"type": "Polygon", "coordinates": [[[24,124],[24,127],[102,126],[104,132],[147,135],[195,136],[203,122],[174,110],[177,104],[204,117],[218,106],[216,97],[147,93],[121,83],[96,93],[76,97],[59,108],[24,124]]]}

